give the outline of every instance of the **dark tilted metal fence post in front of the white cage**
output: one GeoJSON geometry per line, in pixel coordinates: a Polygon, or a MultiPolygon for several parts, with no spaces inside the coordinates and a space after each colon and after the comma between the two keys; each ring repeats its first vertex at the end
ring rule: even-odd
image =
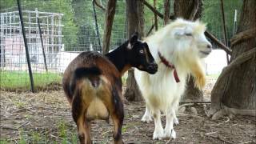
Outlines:
{"type": "Polygon", "coordinates": [[[24,45],[25,45],[25,50],[26,50],[26,62],[27,62],[27,66],[29,68],[29,73],[30,73],[31,91],[34,93],[34,79],[33,79],[33,74],[32,74],[31,65],[30,65],[30,54],[29,54],[29,50],[28,50],[28,46],[27,46],[27,42],[26,42],[26,31],[25,31],[24,23],[23,23],[21,3],[19,0],[17,0],[17,3],[18,3],[18,14],[19,14],[19,18],[21,21],[21,25],[22,25],[22,34],[23,34],[23,40],[24,40],[24,45]]]}

